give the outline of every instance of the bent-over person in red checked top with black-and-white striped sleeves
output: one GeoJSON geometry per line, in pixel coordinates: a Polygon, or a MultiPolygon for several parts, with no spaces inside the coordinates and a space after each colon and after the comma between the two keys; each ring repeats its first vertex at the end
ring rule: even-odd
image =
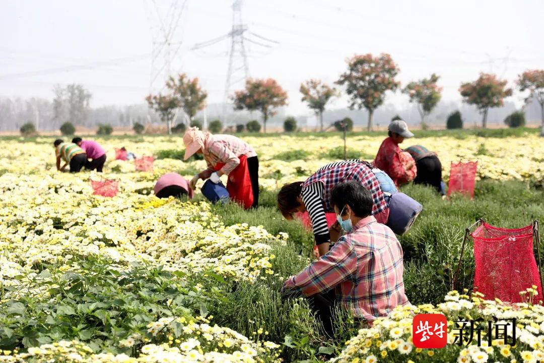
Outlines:
{"type": "Polygon", "coordinates": [[[389,207],[372,169],[371,164],[358,159],[327,164],[305,182],[283,186],[277,195],[278,208],[286,219],[293,219],[295,212],[308,211],[319,255],[323,256],[339,236],[338,225],[329,229],[325,217],[325,212],[334,212],[329,195],[338,183],[355,180],[370,190],[372,214],[379,223],[387,223],[389,207]]]}

